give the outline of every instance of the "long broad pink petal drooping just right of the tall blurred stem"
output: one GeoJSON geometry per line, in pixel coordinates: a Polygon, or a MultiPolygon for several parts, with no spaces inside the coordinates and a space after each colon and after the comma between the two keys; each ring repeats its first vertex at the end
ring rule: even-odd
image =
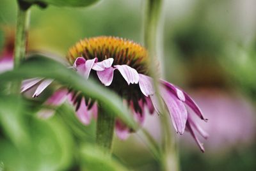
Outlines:
{"type": "Polygon", "coordinates": [[[184,133],[188,119],[188,112],[184,103],[165,87],[161,89],[161,96],[168,108],[175,130],[180,134],[184,133]]]}

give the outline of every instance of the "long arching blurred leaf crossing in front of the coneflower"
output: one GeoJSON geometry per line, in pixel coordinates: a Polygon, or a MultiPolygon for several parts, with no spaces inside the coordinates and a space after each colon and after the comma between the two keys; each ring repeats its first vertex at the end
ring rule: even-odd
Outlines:
{"type": "Polygon", "coordinates": [[[19,68],[2,73],[0,80],[4,82],[35,77],[54,78],[62,84],[70,85],[72,88],[81,91],[84,96],[99,101],[109,114],[116,115],[125,124],[137,130],[138,125],[134,122],[131,112],[123,104],[118,94],[113,93],[103,85],[95,83],[93,80],[85,80],[75,71],[67,69],[66,66],[52,59],[34,55],[21,64],[19,68]]]}

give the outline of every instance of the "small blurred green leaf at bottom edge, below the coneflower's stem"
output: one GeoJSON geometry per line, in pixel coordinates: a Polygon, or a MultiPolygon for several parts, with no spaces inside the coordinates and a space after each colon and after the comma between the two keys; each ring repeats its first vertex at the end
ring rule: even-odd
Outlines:
{"type": "Polygon", "coordinates": [[[104,154],[97,147],[84,145],[81,149],[81,165],[84,170],[125,171],[128,170],[120,162],[104,154]]]}

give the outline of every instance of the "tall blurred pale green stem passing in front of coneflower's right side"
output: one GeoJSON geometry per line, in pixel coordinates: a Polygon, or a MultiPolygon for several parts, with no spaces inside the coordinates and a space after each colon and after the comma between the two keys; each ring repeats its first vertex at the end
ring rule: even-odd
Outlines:
{"type": "MultiPolygon", "coordinates": [[[[150,75],[154,78],[154,86],[157,93],[157,98],[161,101],[159,96],[159,87],[158,87],[158,75],[155,72],[154,68],[157,68],[155,61],[164,61],[161,59],[161,55],[159,52],[159,43],[161,43],[157,38],[161,38],[159,33],[163,33],[163,31],[159,31],[159,19],[161,19],[161,7],[163,0],[147,0],[146,4],[146,13],[145,13],[145,47],[147,47],[148,52],[150,54],[150,75]],[[157,59],[157,56],[159,59],[157,59]]],[[[161,130],[162,130],[162,162],[161,167],[162,170],[179,170],[179,158],[177,157],[177,147],[175,137],[172,136],[172,131],[170,130],[170,119],[168,113],[164,110],[164,105],[161,104],[161,111],[163,111],[163,115],[161,115],[161,130]]]]}

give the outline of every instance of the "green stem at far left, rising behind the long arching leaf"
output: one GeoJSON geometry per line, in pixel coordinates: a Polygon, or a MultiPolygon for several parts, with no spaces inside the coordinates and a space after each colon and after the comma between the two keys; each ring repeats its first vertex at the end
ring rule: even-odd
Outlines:
{"type": "MultiPolygon", "coordinates": [[[[18,1],[19,2],[19,1],[18,1]]],[[[20,65],[20,62],[25,58],[26,44],[28,39],[29,27],[29,6],[27,4],[18,3],[17,13],[17,26],[15,34],[15,47],[14,47],[14,68],[20,65]]],[[[20,81],[13,82],[13,93],[20,93],[20,81]]]]}

